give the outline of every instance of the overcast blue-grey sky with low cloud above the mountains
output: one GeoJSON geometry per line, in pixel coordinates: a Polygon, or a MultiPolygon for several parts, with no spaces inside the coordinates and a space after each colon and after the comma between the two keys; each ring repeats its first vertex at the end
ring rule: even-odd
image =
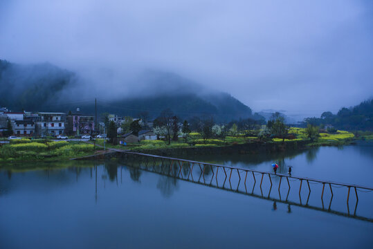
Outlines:
{"type": "Polygon", "coordinates": [[[320,116],[373,96],[373,3],[0,0],[0,59],[123,95],[143,71],[176,73],[254,111],[320,116]]]}

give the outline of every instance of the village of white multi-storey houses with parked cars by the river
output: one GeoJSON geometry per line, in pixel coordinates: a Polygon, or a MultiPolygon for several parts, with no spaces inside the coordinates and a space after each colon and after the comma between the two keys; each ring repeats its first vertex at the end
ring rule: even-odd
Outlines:
{"type": "MultiPolygon", "coordinates": [[[[124,133],[122,124],[128,122],[129,117],[108,114],[107,124],[113,122],[118,134],[118,142],[140,142],[140,140],[156,140],[157,136],[151,129],[140,129],[135,135],[124,133]],[[118,128],[117,128],[118,127],[118,128]]],[[[144,123],[140,118],[131,118],[131,122],[138,122],[143,127],[152,127],[152,122],[144,123]]],[[[107,125],[106,124],[106,125],[107,125]]],[[[6,107],[0,108],[0,137],[8,140],[20,138],[106,138],[105,122],[97,121],[95,116],[85,116],[77,108],[75,112],[30,112],[10,111],[6,107]]]]}

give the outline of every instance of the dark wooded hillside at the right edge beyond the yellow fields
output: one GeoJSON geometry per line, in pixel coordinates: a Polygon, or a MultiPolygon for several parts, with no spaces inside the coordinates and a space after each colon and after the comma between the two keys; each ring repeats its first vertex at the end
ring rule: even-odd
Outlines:
{"type": "Polygon", "coordinates": [[[336,114],[325,111],[320,118],[305,118],[303,124],[347,131],[373,131],[373,99],[363,101],[355,107],[343,107],[336,114]]]}

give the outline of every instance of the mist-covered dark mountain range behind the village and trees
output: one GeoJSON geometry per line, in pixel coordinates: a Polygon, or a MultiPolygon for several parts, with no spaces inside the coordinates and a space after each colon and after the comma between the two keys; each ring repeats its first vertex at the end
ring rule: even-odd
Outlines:
{"type": "MultiPolygon", "coordinates": [[[[0,60],[0,106],[12,111],[68,112],[79,107],[82,113],[94,115],[93,96],[87,102],[79,93],[73,94],[77,84],[82,83],[75,73],[51,64],[24,66],[0,60]]],[[[213,116],[217,122],[226,122],[253,117],[249,107],[228,93],[210,91],[173,73],[147,71],[136,84],[141,87],[134,87],[132,95],[123,98],[111,100],[110,93],[104,98],[99,95],[98,113],[138,116],[147,112],[156,118],[170,108],[180,118],[213,116]]]]}

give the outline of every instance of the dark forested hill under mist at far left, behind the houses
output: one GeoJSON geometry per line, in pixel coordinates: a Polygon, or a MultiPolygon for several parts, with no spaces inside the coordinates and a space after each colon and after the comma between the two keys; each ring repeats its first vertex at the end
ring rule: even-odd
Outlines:
{"type": "Polygon", "coordinates": [[[12,111],[50,111],[73,78],[51,64],[24,66],[0,59],[0,105],[12,111]]]}

